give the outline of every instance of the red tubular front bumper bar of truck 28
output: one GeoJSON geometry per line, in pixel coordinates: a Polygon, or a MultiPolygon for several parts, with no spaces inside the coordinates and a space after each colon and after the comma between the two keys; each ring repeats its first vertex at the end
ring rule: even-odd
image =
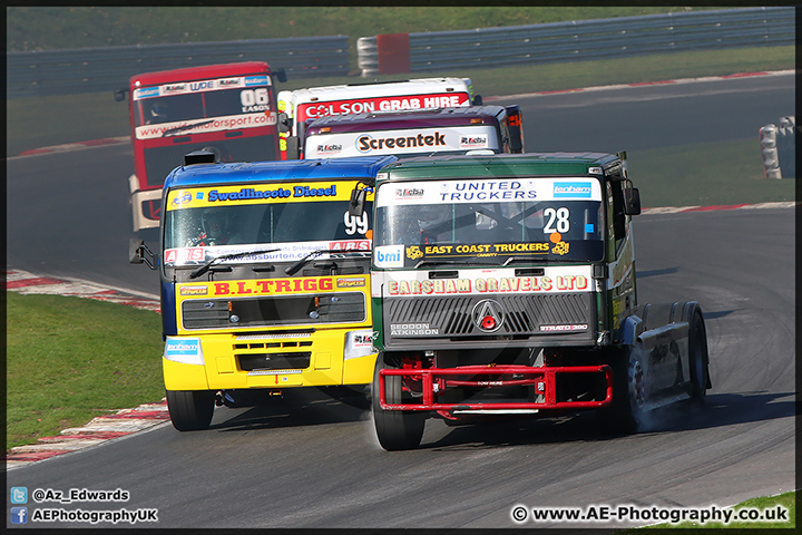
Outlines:
{"type": "Polygon", "coordinates": [[[466,366],[461,368],[383,369],[379,371],[379,401],[382,410],[510,410],[510,409],[590,409],[605,407],[613,400],[613,370],[607,364],[532,368],[529,366],[466,366]],[[604,400],[557,401],[558,373],[603,373],[606,382],[604,400]],[[421,401],[388,403],[384,377],[401,376],[421,382],[421,401]],[[492,376],[487,380],[477,376],[492,376]],[[438,403],[438,392],[449,387],[499,388],[532,386],[542,401],[438,403]]]}

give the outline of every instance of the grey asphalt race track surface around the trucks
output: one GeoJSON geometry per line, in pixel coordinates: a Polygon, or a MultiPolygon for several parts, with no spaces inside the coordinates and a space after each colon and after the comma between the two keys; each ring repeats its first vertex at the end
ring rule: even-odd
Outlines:
{"type": "MultiPolygon", "coordinates": [[[[732,81],[749,85],[727,84],[732,81]]],[[[749,124],[734,135],[743,138],[756,135],[767,121],[792,115],[783,99],[793,109],[792,80],[785,90],[775,89],[777,79],[763,79],[762,88],[760,79],[749,81],[759,88],[705,87],[698,101],[691,95],[648,96],[667,87],[605,98],[619,100],[618,115],[627,113],[627,101],[644,106],[651,110],[649,123],[672,116],[661,108],[676,104],[693,107],[696,111],[688,114],[698,124],[724,116],[734,120],[727,110],[740,109],[749,124]],[[757,101],[774,107],[752,117],[745,110],[757,101]]],[[[602,98],[602,93],[591,98],[602,98]]],[[[567,96],[535,97],[542,100],[531,105],[516,100],[525,106],[529,129],[539,116],[539,126],[559,133],[563,126],[546,121],[546,100],[567,96]]],[[[563,113],[578,110],[568,118],[577,128],[586,119],[616,115],[575,97],[563,113]]],[[[675,129],[649,129],[651,143],[640,148],[686,144],[687,133],[675,129]]],[[[715,130],[727,138],[735,126],[715,130]]],[[[586,148],[632,150],[643,145],[645,132],[619,132],[622,139],[610,135],[605,140],[610,146],[586,148]]],[[[537,134],[526,136],[531,150],[537,134]]],[[[560,146],[542,149],[577,146],[570,136],[554,142],[560,146]]],[[[9,159],[8,265],[155,293],[153,272],[127,264],[130,231],[124,178],[129,168],[126,146],[9,159]]],[[[704,408],[663,411],[637,435],[604,437],[596,432],[591,414],[457,428],[429,420],[420,449],[390,454],[379,447],[368,412],[314,391],[288,391],[255,408],[218,408],[206,431],[180,434],[165,424],[10,470],[8,487],[120,488],[130,493],[125,503],[30,503],[29,508],[155,508],[158,524],[137,526],[167,528],[618,528],[626,524],[517,524],[511,510],[516,505],[723,507],[792,490],[794,228],[793,208],[636,218],[639,301],[700,302],[713,381],[704,408]]]]}

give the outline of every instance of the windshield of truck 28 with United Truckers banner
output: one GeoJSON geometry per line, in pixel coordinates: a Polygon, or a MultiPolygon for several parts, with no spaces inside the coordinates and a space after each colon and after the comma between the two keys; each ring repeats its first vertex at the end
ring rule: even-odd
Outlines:
{"type": "Polygon", "coordinates": [[[382,184],[374,264],[598,261],[600,195],[589,177],[382,184]]]}

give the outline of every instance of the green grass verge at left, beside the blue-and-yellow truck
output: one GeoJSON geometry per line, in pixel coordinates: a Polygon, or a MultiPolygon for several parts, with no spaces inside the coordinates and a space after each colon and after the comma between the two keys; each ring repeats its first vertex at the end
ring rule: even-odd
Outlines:
{"type": "Polygon", "coordinates": [[[7,450],[164,397],[158,314],[72,296],[6,300],[7,450]]]}

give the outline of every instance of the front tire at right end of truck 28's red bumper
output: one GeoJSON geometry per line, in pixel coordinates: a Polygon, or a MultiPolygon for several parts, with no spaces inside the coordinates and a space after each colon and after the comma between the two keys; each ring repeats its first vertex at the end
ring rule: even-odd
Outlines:
{"type": "Polygon", "coordinates": [[[596,411],[599,430],[606,435],[637,432],[644,419],[646,389],[638,347],[625,347],[612,353],[613,402],[596,411]]]}

